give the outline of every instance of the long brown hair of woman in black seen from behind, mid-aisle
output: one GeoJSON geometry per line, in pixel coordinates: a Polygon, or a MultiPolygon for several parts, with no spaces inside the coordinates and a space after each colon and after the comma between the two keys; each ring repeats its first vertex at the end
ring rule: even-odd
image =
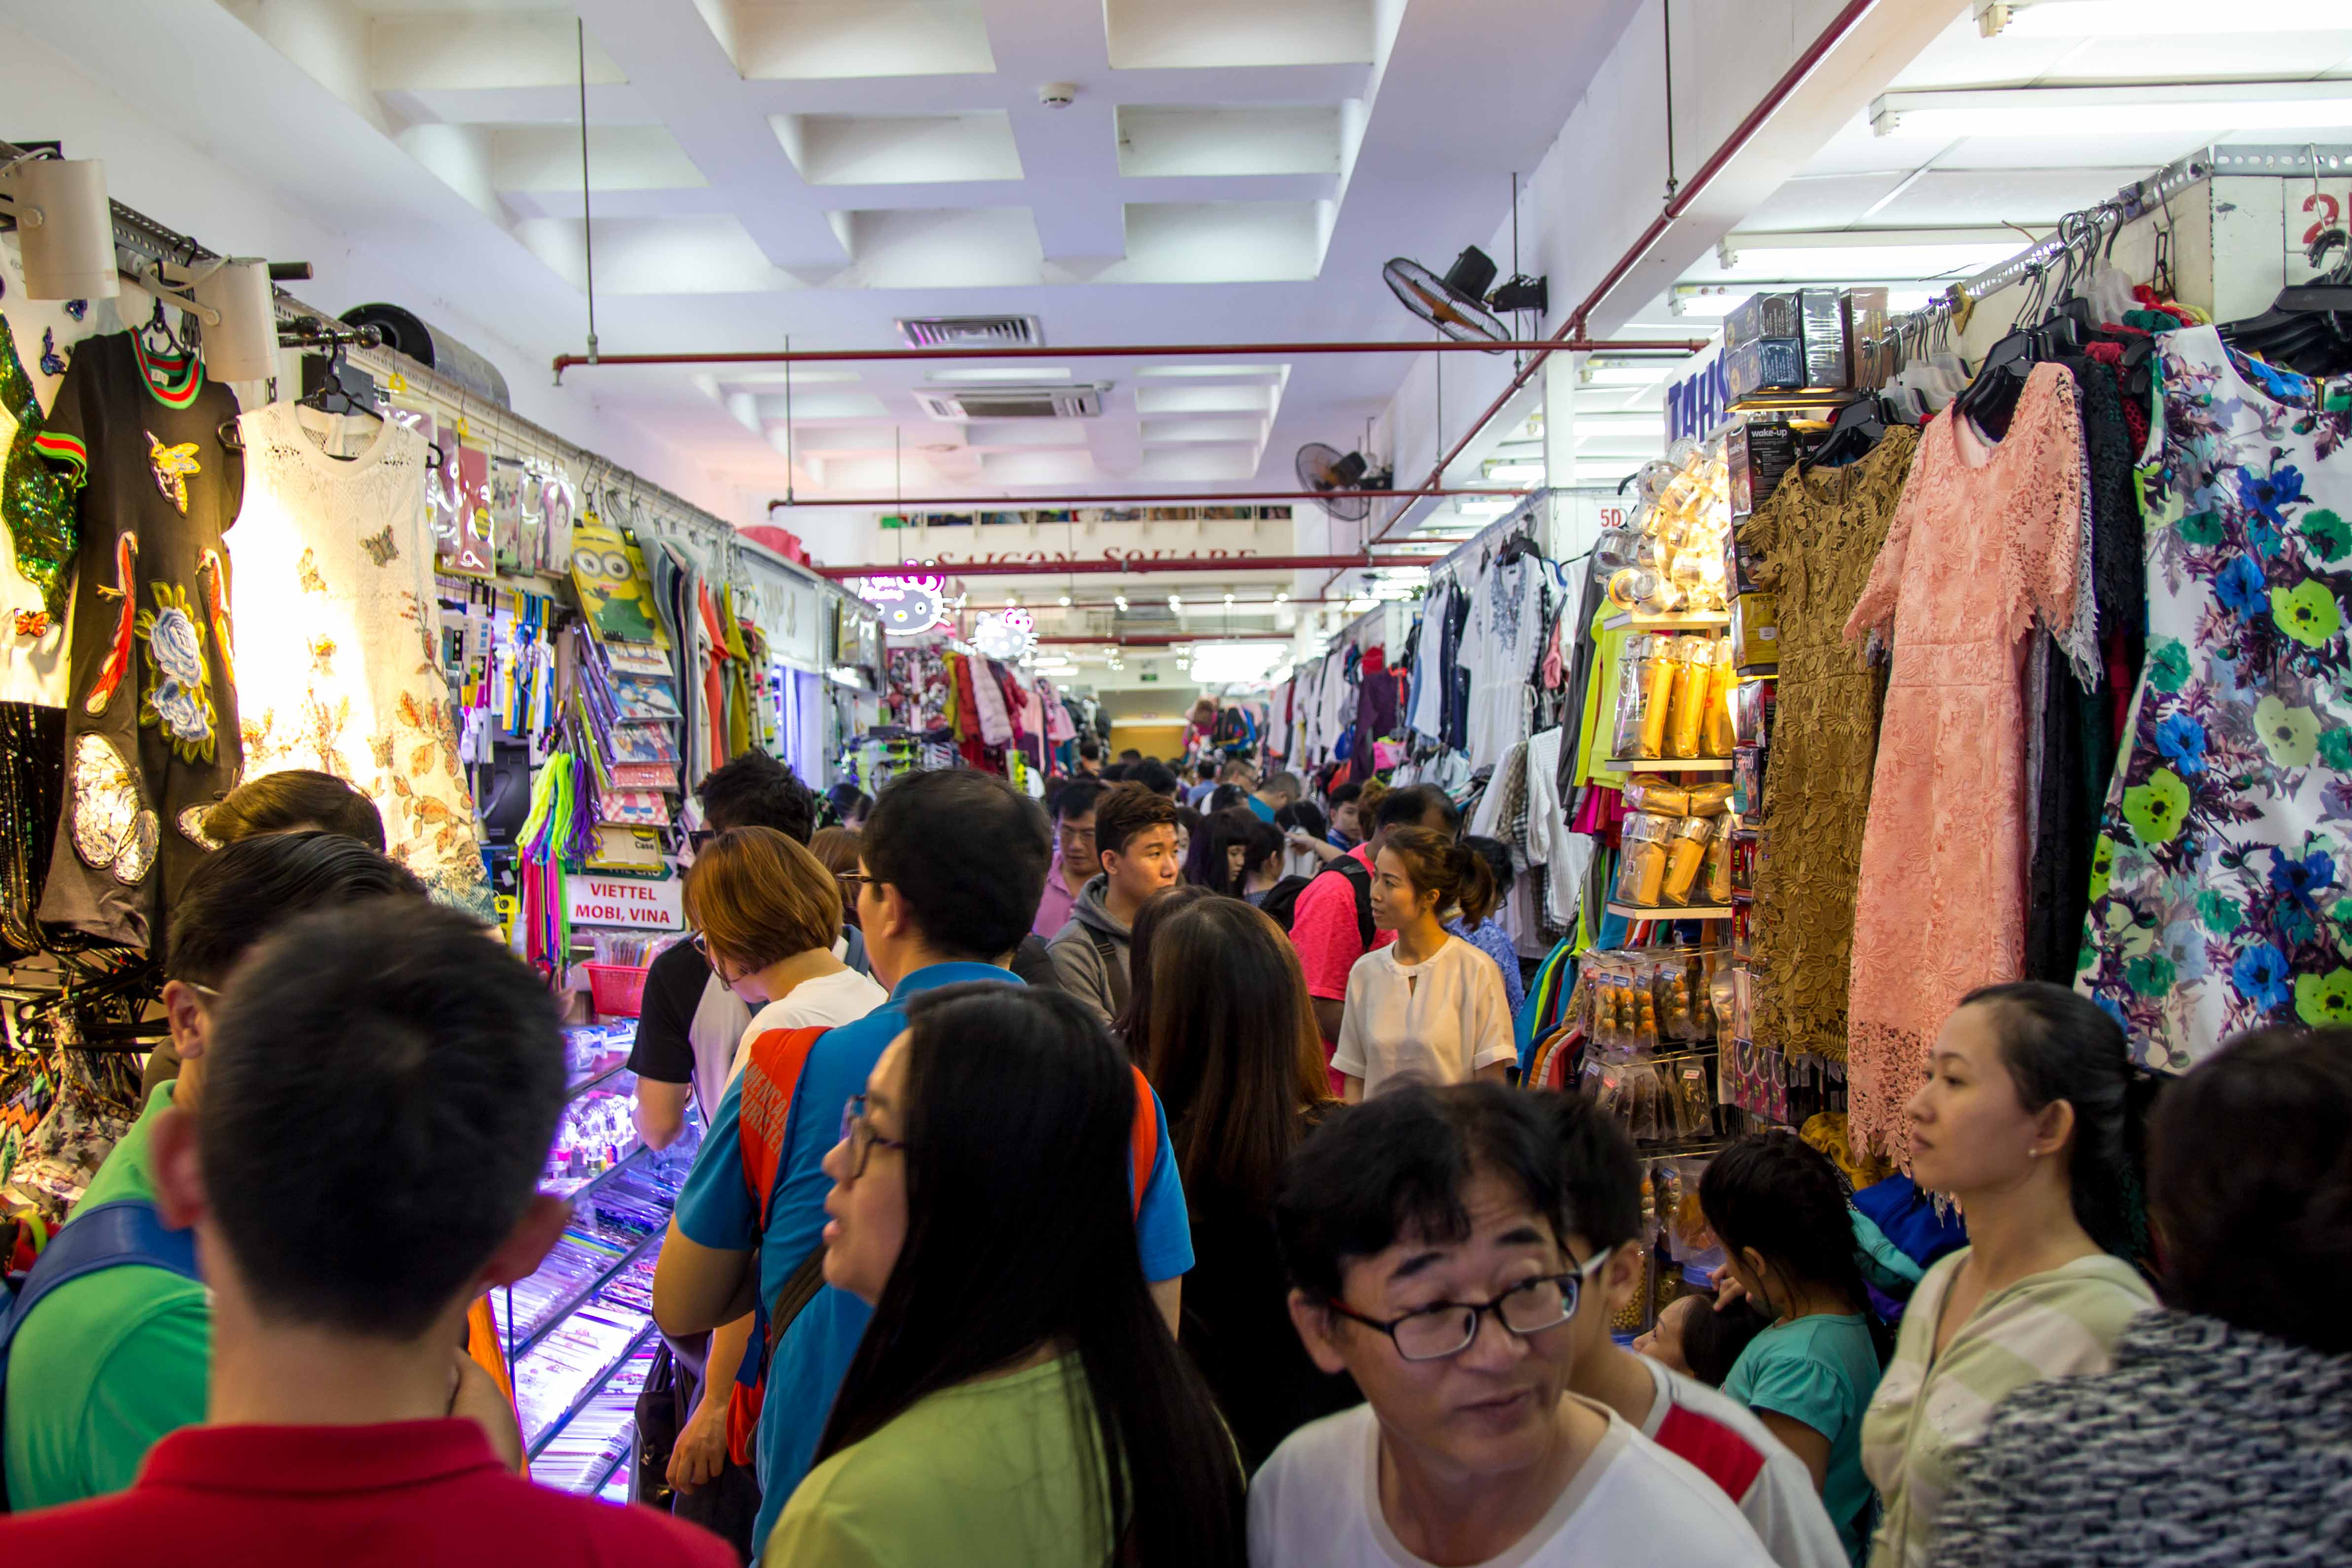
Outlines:
{"type": "Polygon", "coordinates": [[[1185,1192],[1265,1208],[1301,1112],[1331,1098],[1298,950],[1240,898],[1202,898],[1160,922],[1152,997],[1143,1060],[1185,1192]]]}

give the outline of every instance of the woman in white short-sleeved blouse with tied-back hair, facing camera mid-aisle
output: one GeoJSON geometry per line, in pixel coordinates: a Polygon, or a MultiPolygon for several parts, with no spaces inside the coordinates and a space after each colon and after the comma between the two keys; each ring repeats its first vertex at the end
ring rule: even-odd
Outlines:
{"type": "Polygon", "coordinates": [[[1484,858],[1428,827],[1381,835],[1371,919],[1397,940],[1348,971],[1331,1067],[1350,1103],[1406,1074],[1430,1084],[1501,1079],[1517,1060],[1503,973],[1444,929],[1446,912],[1465,900],[1494,900],[1484,858]]]}

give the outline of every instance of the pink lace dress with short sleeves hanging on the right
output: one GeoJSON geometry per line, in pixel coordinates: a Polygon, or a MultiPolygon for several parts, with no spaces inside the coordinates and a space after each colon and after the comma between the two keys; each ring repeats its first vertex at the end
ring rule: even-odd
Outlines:
{"type": "Polygon", "coordinates": [[[1853,907],[1849,1112],[1910,1147],[1903,1103],[1952,1006],[2025,973],[2025,654],[2074,621],[2082,571],[2074,381],[2034,367],[2009,435],[1959,414],[1919,456],[1846,642],[1893,646],[1853,907]]]}

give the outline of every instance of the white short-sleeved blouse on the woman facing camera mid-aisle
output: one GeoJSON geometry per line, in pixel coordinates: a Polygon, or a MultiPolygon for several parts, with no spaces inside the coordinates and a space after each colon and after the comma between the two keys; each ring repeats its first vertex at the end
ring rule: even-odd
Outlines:
{"type": "Polygon", "coordinates": [[[1489,1063],[1517,1058],[1503,971],[1458,936],[1418,964],[1399,964],[1390,945],[1348,971],[1331,1067],[1364,1079],[1367,1100],[1402,1072],[1461,1084],[1489,1063]]]}

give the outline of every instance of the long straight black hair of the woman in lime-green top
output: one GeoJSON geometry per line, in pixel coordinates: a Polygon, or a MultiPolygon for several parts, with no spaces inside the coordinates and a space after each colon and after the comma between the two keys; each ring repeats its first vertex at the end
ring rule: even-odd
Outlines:
{"type": "Polygon", "coordinates": [[[1136,1255],[1136,1072],[1094,1013],[1016,985],[908,1006],[906,1244],[826,1420],[816,1460],[927,1394],[1035,1354],[1075,1354],[1077,1432],[1103,1561],[1247,1556],[1232,1439],[1152,1305],[1136,1255]]]}

